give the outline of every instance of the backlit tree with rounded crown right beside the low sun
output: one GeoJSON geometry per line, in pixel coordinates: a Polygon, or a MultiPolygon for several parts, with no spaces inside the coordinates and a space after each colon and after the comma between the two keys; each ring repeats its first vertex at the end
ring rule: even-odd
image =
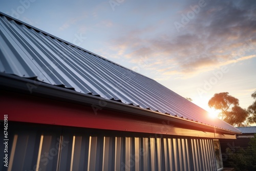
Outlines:
{"type": "Polygon", "coordinates": [[[220,110],[219,117],[225,122],[235,126],[247,125],[244,123],[248,117],[248,112],[239,106],[239,100],[230,96],[228,92],[216,93],[208,105],[210,108],[220,110]]]}

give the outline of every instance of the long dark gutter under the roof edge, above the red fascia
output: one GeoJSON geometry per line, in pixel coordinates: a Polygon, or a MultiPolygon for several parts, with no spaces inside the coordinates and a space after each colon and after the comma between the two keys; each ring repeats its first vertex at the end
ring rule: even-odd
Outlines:
{"type": "Polygon", "coordinates": [[[79,93],[62,87],[52,86],[47,83],[36,81],[36,79],[33,78],[28,79],[18,77],[15,75],[0,73],[0,80],[0,87],[4,90],[11,90],[34,96],[46,97],[60,101],[92,106],[96,110],[98,108],[104,110],[111,110],[115,112],[121,112],[129,115],[141,116],[144,118],[171,121],[176,125],[182,125],[184,127],[189,128],[188,130],[194,129],[201,131],[203,130],[203,132],[215,133],[215,138],[227,138],[228,135],[241,134],[239,132],[224,130],[219,127],[214,127],[190,121],[187,119],[162,114],[160,112],[142,109],[138,106],[133,106],[130,104],[125,104],[114,100],[104,99],[102,97],[79,93]]]}

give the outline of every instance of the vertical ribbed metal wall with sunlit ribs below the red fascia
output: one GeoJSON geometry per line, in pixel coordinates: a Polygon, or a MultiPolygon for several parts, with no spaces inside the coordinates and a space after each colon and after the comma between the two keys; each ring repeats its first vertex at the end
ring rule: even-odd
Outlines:
{"type": "Polygon", "coordinates": [[[67,127],[15,130],[7,170],[217,170],[211,139],[67,127]]]}

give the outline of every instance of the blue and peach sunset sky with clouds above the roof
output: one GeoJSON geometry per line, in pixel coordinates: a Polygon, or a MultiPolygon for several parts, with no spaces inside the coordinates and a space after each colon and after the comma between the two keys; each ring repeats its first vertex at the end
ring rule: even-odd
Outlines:
{"type": "Polygon", "coordinates": [[[0,11],[163,84],[201,108],[256,91],[255,1],[0,0],[0,11]]]}

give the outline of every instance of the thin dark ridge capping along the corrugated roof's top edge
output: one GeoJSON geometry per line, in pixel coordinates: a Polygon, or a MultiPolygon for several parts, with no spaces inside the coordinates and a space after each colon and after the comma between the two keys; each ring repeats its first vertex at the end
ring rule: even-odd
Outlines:
{"type": "MultiPolygon", "coordinates": [[[[126,70],[129,70],[129,71],[131,71],[131,72],[134,72],[134,73],[136,73],[136,74],[139,74],[140,76],[143,76],[143,77],[146,77],[146,78],[148,78],[148,79],[154,80],[154,79],[152,79],[152,78],[150,78],[150,77],[147,77],[147,76],[145,76],[145,75],[142,75],[142,74],[140,74],[140,73],[138,73],[138,72],[136,72],[136,71],[133,71],[133,70],[131,70],[131,69],[129,69],[129,68],[126,68],[126,67],[124,67],[124,66],[121,66],[121,65],[119,65],[118,63],[116,63],[116,62],[114,62],[114,61],[112,61],[112,60],[110,60],[110,59],[107,59],[107,58],[105,58],[105,57],[103,57],[103,56],[100,56],[100,55],[98,55],[98,54],[96,54],[96,53],[93,53],[93,52],[91,52],[91,51],[89,51],[89,50],[86,50],[86,49],[84,49],[84,48],[82,48],[82,47],[79,47],[79,46],[77,46],[77,45],[74,45],[74,44],[72,44],[71,42],[69,42],[69,41],[67,41],[67,40],[63,40],[62,38],[59,38],[59,37],[57,37],[57,36],[54,36],[54,35],[52,35],[52,34],[46,32],[46,31],[43,31],[43,30],[41,30],[41,29],[38,29],[38,28],[36,28],[36,27],[34,27],[34,26],[31,26],[31,25],[28,24],[28,23],[22,22],[21,20],[19,20],[19,19],[17,19],[17,18],[14,18],[14,17],[12,17],[12,16],[10,16],[10,15],[8,15],[8,14],[2,12],[2,11],[0,11],[0,16],[1,16],[1,15],[5,16],[5,17],[7,17],[7,18],[9,18],[9,19],[14,20],[14,22],[16,22],[16,23],[18,23],[18,24],[23,24],[24,26],[26,26],[26,27],[28,27],[28,28],[31,28],[31,29],[34,29],[35,31],[39,31],[39,32],[41,32],[41,33],[43,33],[43,34],[46,34],[46,35],[52,37],[52,38],[56,38],[57,40],[60,40],[60,41],[64,42],[65,44],[68,44],[68,45],[70,45],[70,46],[72,46],[72,47],[75,47],[75,48],[77,48],[77,49],[80,49],[80,50],[82,50],[82,51],[84,51],[84,52],[87,52],[87,53],[90,53],[90,54],[92,54],[92,55],[94,55],[94,56],[97,56],[97,57],[99,57],[99,58],[102,58],[102,59],[104,59],[104,60],[106,60],[106,61],[109,61],[109,62],[111,62],[111,63],[113,63],[113,64],[115,64],[115,65],[117,65],[117,66],[119,66],[119,67],[122,67],[122,68],[126,69],[126,70]]],[[[154,81],[155,81],[155,80],[154,80],[154,81]]]]}

